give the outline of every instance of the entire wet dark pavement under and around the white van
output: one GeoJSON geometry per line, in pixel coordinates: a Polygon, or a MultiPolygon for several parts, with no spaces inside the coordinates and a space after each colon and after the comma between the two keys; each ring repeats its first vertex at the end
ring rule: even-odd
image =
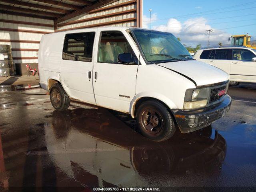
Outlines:
{"type": "Polygon", "coordinates": [[[0,92],[0,191],[256,190],[255,84],[230,88],[231,110],[212,126],[161,143],[124,114],[59,112],[48,95],[28,92],[0,92]]]}

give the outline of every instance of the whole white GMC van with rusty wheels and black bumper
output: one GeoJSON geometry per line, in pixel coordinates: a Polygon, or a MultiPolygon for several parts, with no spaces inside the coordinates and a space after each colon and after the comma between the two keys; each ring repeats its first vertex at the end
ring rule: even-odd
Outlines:
{"type": "Polygon", "coordinates": [[[229,75],[194,60],[171,34],[141,28],[88,28],[42,36],[40,86],[56,110],[70,100],[136,118],[155,141],[210,125],[226,114],[229,75]]]}

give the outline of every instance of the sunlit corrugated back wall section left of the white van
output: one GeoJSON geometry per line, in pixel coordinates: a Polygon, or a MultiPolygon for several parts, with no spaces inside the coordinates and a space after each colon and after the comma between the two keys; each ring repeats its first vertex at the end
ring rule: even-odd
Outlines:
{"type": "Polygon", "coordinates": [[[52,20],[0,14],[0,44],[12,46],[14,64],[38,62],[41,37],[50,32],[54,32],[52,20]]]}

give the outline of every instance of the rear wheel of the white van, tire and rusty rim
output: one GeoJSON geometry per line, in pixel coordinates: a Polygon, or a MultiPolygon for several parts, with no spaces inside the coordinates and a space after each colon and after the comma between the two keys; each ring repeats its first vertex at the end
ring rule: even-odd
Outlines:
{"type": "Polygon", "coordinates": [[[70,98],[59,83],[51,87],[50,100],[56,110],[66,110],[70,105],[70,98]]]}

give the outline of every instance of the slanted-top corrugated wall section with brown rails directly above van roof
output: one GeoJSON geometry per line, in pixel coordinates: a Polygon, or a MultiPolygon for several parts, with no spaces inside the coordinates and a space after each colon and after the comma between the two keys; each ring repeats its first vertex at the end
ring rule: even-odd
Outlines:
{"type": "Polygon", "coordinates": [[[136,0],[119,0],[57,24],[58,30],[96,26],[137,26],[136,0]]]}

